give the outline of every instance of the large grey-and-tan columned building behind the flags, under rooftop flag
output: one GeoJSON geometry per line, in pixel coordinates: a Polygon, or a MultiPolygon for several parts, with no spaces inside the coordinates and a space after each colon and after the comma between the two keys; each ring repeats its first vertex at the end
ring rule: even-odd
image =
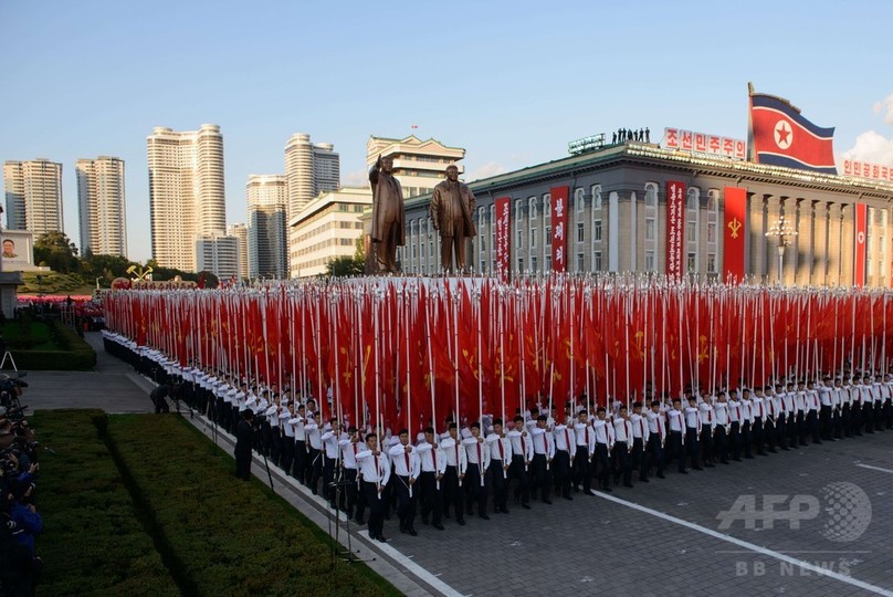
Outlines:
{"type": "MultiPolygon", "coordinates": [[[[569,188],[566,269],[570,272],[666,272],[668,182],[684,184],[682,271],[723,275],[725,189],[746,189],[744,271],[756,281],[779,279],[778,239],[766,233],[784,218],[797,234],[782,253],[781,281],[851,285],[857,276],[855,206],[866,206],[864,280],[890,286],[893,265],[893,181],[766,166],[731,157],[623,143],[593,148],[470,184],[477,235],[467,252],[475,273],[496,268],[495,199],[511,198],[512,272],[551,264],[551,196],[569,188]]],[[[407,200],[406,273],[438,273],[440,247],[431,227],[431,196],[407,200]]]]}

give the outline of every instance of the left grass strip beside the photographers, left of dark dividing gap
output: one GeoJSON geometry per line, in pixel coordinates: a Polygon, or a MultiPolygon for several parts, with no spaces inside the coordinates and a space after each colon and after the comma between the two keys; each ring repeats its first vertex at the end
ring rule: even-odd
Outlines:
{"type": "Polygon", "coordinates": [[[42,410],[40,595],[179,595],[96,422],[101,410],[42,410]]]}

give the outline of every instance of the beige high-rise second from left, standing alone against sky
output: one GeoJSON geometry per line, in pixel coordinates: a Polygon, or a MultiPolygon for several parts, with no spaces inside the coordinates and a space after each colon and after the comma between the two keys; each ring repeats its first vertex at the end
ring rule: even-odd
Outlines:
{"type": "Polygon", "coordinates": [[[78,159],[77,205],[81,254],[126,255],[124,160],[99,156],[78,159]]]}

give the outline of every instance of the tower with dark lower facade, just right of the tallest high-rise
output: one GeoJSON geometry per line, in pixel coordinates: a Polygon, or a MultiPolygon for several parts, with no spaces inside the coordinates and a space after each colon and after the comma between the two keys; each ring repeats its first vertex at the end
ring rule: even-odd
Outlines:
{"type": "Polygon", "coordinates": [[[249,275],[286,277],[288,275],[286,177],[251,175],[248,196],[249,275]]]}

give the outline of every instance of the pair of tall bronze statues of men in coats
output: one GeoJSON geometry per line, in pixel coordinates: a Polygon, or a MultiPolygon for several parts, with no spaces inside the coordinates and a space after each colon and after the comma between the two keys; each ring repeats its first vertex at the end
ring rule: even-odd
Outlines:
{"type": "MultiPolygon", "coordinates": [[[[397,247],[406,244],[406,212],[403,190],[393,177],[393,159],[390,156],[376,160],[369,172],[372,186],[371,241],[376,243],[376,261],[379,273],[397,273],[397,247]]],[[[440,264],[443,273],[464,273],[465,245],[477,230],[472,219],[474,193],[467,185],[459,181],[459,168],[446,167],[446,179],[434,187],[431,196],[431,223],[440,232],[440,264]]]]}

